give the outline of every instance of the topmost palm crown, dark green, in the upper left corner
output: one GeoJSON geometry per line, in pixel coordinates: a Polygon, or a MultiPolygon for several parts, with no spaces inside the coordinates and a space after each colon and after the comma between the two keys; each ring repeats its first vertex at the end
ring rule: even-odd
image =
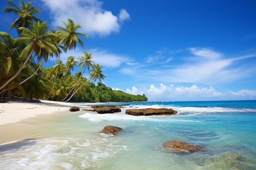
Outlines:
{"type": "MultiPolygon", "coordinates": [[[[7,0],[7,4],[9,4],[10,7],[5,7],[3,9],[4,12],[15,13],[19,15],[19,18],[11,23],[9,29],[12,29],[13,27],[16,29],[19,27],[30,28],[31,22],[41,21],[34,16],[35,14],[40,13],[41,10],[36,9],[36,6],[32,6],[32,2],[27,2],[25,4],[23,0],[20,0],[18,7],[12,1],[7,0]]],[[[21,33],[20,31],[21,30],[18,31],[19,34],[21,33]]]]}

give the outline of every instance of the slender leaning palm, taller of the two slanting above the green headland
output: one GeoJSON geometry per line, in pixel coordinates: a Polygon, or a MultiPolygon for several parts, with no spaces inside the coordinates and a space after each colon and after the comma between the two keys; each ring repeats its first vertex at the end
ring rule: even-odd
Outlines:
{"type": "MultiPolygon", "coordinates": [[[[83,51],[83,53],[85,56],[79,57],[79,64],[78,64],[80,66],[80,70],[82,68],[84,68],[83,73],[80,75],[76,84],[73,86],[71,91],[67,94],[67,96],[62,101],[64,101],[68,97],[68,95],[70,95],[70,93],[72,93],[72,91],[76,88],[77,84],[79,83],[80,79],[82,78],[83,74],[85,73],[85,70],[87,69],[88,72],[90,73],[90,68],[91,68],[92,64],[94,64],[94,62],[92,61],[92,58],[95,56],[92,56],[92,53],[90,51],[83,51]]],[[[74,93],[76,93],[76,91],[74,91],[72,93],[72,96],[74,95],[74,93]]]]}

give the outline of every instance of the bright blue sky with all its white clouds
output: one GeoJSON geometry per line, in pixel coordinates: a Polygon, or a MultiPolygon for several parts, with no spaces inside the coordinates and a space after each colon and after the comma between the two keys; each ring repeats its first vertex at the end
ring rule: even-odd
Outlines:
{"type": "MultiPolygon", "coordinates": [[[[89,36],[80,37],[85,45],[61,60],[90,51],[108,87],[145,94],[148,101],[256,99],[255,0],[30,1],[50,29],[67,18],[81,24],[78,32],[89,36]]],[[[0,15],[0,31],[16,38],[9,25],[18,16],[0,15]]]]}

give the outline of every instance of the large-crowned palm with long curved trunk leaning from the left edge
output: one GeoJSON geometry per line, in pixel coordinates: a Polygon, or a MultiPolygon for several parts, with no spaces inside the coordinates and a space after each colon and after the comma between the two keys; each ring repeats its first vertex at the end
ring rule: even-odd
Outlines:
{"type": "Polygon", "coordinates": [[[19,31],[22,31],[20,34],[20,38],[17,38],[14,43],[18,42],[26,42],[27,46],[22,49],[19,58],[26,58],[25,62],[22,64],[17,73],[11,77],[7,82],[5,82],[1,87],[4,88],[9,82],[11,82],[25,67],[27,62],[30,60],[32,54],[38,56],[38,60],[40,57],[45,56],[54,56],[54,53],[57,52],[57,47],[54,44],[51,44],[49,40],[52,37],[56,37],[56,34],[47,33],[48,24],[45,22],[35,22],[31,24],[31,31],[25,27],[18,28],[19,31]]]}

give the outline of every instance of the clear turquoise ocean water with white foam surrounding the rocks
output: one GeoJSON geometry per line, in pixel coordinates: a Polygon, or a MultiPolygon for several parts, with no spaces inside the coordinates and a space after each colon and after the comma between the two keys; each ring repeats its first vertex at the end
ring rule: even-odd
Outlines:
{"type": "Polygon", "coordinates": [[[40,123],[38,118],[23,121],[24,137],[0,144],[0,170],[256,170],[255,100],[110,104],[124,108],[114,114],[58,112],[42,115],[40,123]],[[129,108],[172,108],[177,114],[126,115],[129,108]],[[123,130],[99,133],[108,125],[123,130]],[[163,144],[171,140],[202,150],[170,152],[163,144]]]}

